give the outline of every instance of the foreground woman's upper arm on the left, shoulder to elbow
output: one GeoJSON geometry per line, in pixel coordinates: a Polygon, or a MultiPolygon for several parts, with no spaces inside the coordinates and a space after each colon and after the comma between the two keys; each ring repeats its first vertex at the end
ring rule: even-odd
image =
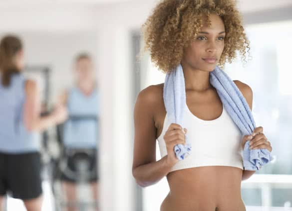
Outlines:
{"type": "Polygon", "coordinates": [[[154,86],[142,90],[134,107],[134,168],[156,161],[156,127],[154,108],[157,93],[154,86]]]}

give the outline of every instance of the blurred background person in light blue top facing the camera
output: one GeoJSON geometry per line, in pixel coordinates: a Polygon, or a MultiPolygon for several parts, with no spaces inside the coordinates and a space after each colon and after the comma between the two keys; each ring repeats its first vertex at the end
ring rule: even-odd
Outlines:
{"type": "MultiPolygon", "coordinates": [[[[99,145],[99,92],[95,80],[94,65],[88,54],[77,55],[74,61],[75,86],[63,93],[60,101],[67,107],[68,119],[63,127],[63,144],[66,149],[89,149],[94,151],[90,161],[90,171],[97,168],[97,152],[99,145]]],[[[68,166],[73,171],[73,158],[68,156],[68,166]]],[[[93,170],[89,179],[93,198],[98,196],[98,173],[93,170]]],[[[76,204],[77,179],[62,175],[63,187],[69,203],[76,204]]],[[[97,201],[96,201],[97,202],[97,201]]],[[[69,208],[73,211],[76,208],[69,208]]],[[[75,211],[75,210],[74,210],[75,211]]]]}

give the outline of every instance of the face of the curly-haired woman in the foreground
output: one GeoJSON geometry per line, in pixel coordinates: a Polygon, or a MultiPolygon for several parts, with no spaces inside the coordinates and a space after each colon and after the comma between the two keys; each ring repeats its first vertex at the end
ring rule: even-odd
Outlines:
{"type": "Polygon", "coordinates": [[[211,26],[204,20],[195,40],[184,50],[182,62],[193,69],[213,71],[224,49],[225,27],[216,14],[210,15],[211,26]]]}

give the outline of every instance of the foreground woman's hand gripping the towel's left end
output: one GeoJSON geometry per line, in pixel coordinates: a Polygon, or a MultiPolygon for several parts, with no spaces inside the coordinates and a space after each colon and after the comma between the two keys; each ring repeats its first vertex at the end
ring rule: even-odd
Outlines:
{"type": "Polygon", "coordinates": [[[179,160],[176,157],[174,147],[177,144],[185,144],[187,129],[182,127],[179,124],[172,123],[169,125],[163,139],[166,144],[167,149],[167,164],[170,166],[174,166],[179,160]]]}

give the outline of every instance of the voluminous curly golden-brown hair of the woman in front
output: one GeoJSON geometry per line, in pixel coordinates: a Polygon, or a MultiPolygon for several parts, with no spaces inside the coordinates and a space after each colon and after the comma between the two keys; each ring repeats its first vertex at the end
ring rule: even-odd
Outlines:
{"type": "Polygon", "coordinates": [[[249,40],[234,0],[162,0],[142,25],[144,50],[164,73],[172,71],[182,60],[184,49],[203,26],[203,17],[211,25],[210,14],[219,15],[225,25],[225,46],[218,61],[223,67],[236,58],[236,51],[246,61],[249,40]]]}

